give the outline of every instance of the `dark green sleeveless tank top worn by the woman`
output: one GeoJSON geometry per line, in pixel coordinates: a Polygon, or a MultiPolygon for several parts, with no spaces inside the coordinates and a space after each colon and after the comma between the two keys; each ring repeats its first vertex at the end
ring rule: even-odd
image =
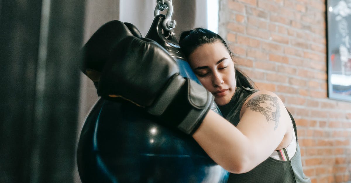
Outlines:
{"type": "MultiPolygon", "coordinates": [[[[219,109],[221,110],[223,116],[232,124],[234,124],[234,126],[237,126],[239,123],[239,114],[241,107],[243,106],[246,99],[256,91],[257,90],[249,88],[237,87],[231,101],[224,106],[219,106],[219,109]]],[[[289,115],[293,123],[297,141],[296,124],[290,112],[289,115]]],[[[311,182],[311,180],[310,178],[307,178],[303,172],[300,148],[297,142],[296,153],[293,157],[290,158],[290,160],[280,161],[269,157],[249,172],[246,172],[244,174],[230,174],[228,183],[232,182],[290,183],[311,182]]]]}

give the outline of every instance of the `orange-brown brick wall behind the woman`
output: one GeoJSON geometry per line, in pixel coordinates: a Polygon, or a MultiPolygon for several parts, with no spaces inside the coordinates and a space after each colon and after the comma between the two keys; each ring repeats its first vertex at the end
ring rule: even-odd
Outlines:
{"type": "Polygon", "coordinates": [[[220,0],[219,33],[293,114],[312,182],[351,182],[351,102],[327,98],[324,0],[220,0]]]}

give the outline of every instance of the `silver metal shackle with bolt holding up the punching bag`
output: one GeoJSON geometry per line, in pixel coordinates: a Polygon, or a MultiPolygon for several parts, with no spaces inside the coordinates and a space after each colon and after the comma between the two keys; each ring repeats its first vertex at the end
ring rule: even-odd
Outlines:
{"type": "Polygon", "coordinates": [[[155,7],[154,15],[155,17],[160,14],[160,11],[167,10],[166,19],[163,21],[162,25],[166,31],[171,31],[176,27],[176,21],[172,20],[173,15],[173,5],[172,0],[157,0],[157,5],[155,7]]]}

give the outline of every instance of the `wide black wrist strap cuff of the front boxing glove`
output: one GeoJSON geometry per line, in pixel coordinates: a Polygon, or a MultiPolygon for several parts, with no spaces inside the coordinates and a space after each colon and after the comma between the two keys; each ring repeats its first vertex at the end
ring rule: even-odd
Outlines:
{"type": "Polygon", "coordinates": [[[198,83],[175,75],[158,100],[148,108],[148,113],[191,135],[200,126],[213,99],[213,95],[198,83]]]}

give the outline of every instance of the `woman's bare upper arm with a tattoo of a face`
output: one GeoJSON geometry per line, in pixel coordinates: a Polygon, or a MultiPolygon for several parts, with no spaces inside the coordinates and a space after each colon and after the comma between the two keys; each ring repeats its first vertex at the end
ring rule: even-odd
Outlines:
{"type": "Polygon", "coordinates": [[[270,91],[257,91],[243,104],[237,128],[249,140],[249,157],[256,166],[282,142],[291,118],[280,98],[270,91]],[[257,153],[259,152],[259,153],[257,153]]]}

